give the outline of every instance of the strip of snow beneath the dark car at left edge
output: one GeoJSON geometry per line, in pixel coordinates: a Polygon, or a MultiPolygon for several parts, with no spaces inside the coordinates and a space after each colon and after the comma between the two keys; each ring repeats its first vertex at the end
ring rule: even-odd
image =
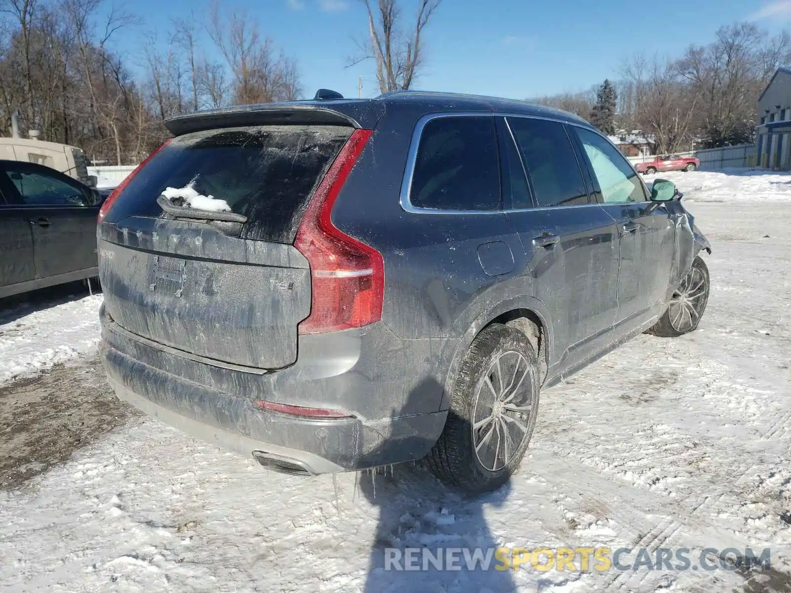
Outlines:
{"type": "Polygon", "coordinates": [[[0,312],[0,384],[92,352],[101,295],[17,304],[0,312]]]}

